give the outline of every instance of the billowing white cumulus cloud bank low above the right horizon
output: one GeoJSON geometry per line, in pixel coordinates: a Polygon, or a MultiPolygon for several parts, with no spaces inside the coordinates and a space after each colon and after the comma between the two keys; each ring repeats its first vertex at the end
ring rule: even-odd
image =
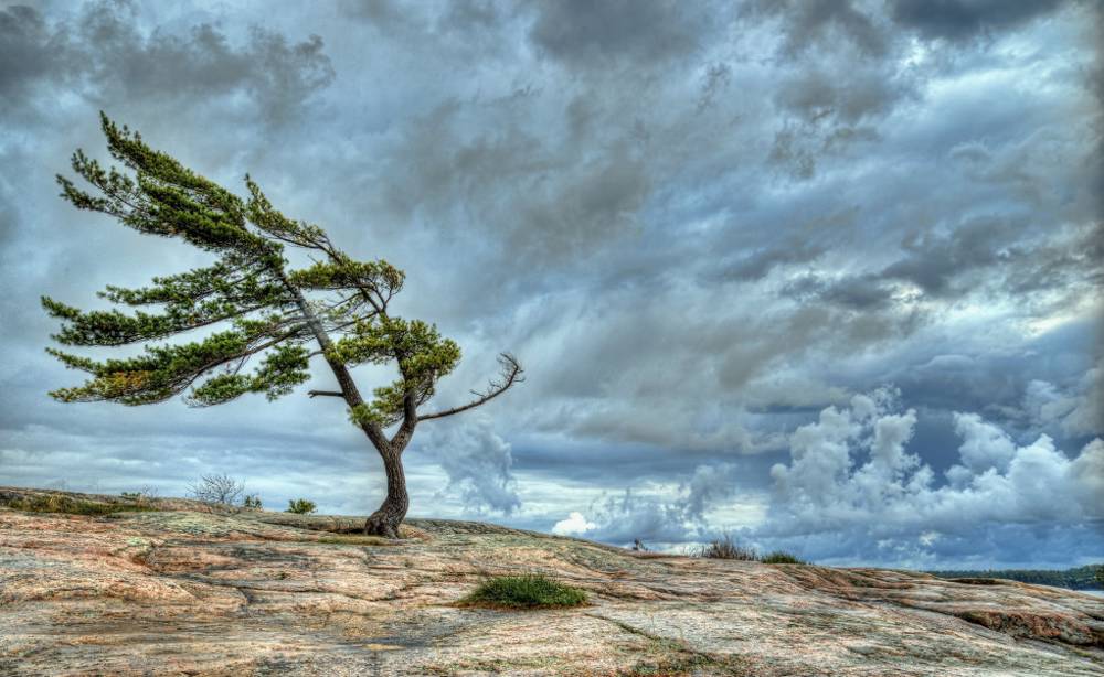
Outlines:
{"type": "MultiPolygon", "coordinates": [[[[825,409],[793,433],[789,462],[772,469],[775,494],[756,536],[821,560],[916,566],[962,557],[964,541],[975,561],[1053,561],[1072,534],[1104,531],[1104,441],[1070,458],[1045,434],[1017,443],[977,415],[954,422],[959,462],[941,480],[906,450],[916,412],[901,411],[893,391],[825,409]],[[1058,551],[1021,549],[1048,529],[1058,551]]],[[[1100,542],[1060,557],[1098,557],[1100,542]]]]}

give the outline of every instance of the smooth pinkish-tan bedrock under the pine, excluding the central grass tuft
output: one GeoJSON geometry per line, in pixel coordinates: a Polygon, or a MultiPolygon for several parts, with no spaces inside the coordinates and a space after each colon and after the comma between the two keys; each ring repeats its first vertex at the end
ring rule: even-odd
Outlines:
{"type": "Polygon", "coordinates": [[[0,674],[1104,675],[1104,600],[1011,581],[655,556],[479,523],[0,488],[0,674]],[[147,509],[156,508],[156,509],[147,509]],[[553,573],[592,604],[450,605],[553,573]]]}

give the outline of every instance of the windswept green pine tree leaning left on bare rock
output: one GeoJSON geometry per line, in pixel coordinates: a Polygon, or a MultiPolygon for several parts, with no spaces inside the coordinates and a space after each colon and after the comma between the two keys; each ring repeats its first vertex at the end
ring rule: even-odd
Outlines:
{"type": "Polygon", "coordinates": [[[43,297],[46,311],[62,321],[53,336],[62,344],[145,346],[137,356],[104,362],[47,348],[66,366],[91,375],[84,385],[50,395],[63,402],[130,406],[185,391],[185,401],[195,407],[248,393],[273,400],[310,378],[311,359],[325,359],[338,388],[309,395],[342,399],[352,425],[383,459],[388,495],[364,530],[395,537],[410,505],[402,453],[418,422],[501,395],[522,380],[518,361],[500,355],[501,376],[486,391],[474,393],[473,401],[421,412],[437,382],[456,367],[460,348],[435,325],[391,312],[391,301],[403,287],[401,270],[384,260],[352,259],[320,227],[273,207],[248,176],[248,197],[242,198],[152,150],[138,132],[100,117],[112,157],[129,171],[105,169],[78,150],[73,170],[94,190],[81,190],[59,175],[62,195],[77,208],[107,214],[139,233],[180,238],[215,260],[205,268],[153,278],[149,287],[107,287],[99,292],[116,304],[146,309],[130,313],[86,312],[43,297]],[[306,250],[315,262],[293,269],[287,247],[306,250]],[[206,334],[190,343],[161,342],[197,330],[206,334]],[[393,363],[397,368],[397,378],[374,388],[371,400],[361,395],[352,373],[365,363],[393,363]]]}

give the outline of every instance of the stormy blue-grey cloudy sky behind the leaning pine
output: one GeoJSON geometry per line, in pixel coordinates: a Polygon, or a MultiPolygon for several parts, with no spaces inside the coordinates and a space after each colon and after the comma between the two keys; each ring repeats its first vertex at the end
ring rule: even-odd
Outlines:
{"type": "Polygon", "coordinates": [[[211,260],[57,196],[104,110],[404,269],[392,309],[464,352],[437,405],[521,359],[418,427],[411,516],[1104,561],[1098,43],[1089,0],[0,0],[0,485],[384,493],[320,367],[275,402],[46,396],[79,378],[40,295],[211,260]]]}

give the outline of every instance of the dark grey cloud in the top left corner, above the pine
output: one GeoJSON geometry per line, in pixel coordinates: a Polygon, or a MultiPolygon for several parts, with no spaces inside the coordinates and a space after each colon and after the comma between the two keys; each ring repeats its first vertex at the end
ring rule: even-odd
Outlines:
{"type": "Polygon", "coordinates": [[[110,106],[119,100],[210,98],[244,93],[272,121],[296,115],[333,79],[321,37],[291,43],[253,28],[233,45],[216,26],[201,23],[184,34],[136,25],[125,2],[84,6],[68,21],[47,21],[33,8],[0,14],[0,92],[63,86],[110,106]]]}

